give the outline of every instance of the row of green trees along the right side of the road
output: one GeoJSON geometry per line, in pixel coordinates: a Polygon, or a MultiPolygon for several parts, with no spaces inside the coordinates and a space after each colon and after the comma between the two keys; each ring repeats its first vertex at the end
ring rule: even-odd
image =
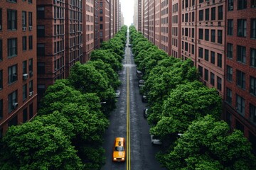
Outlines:
{"type": "Polygon", "coordinates": [[[144,73],[150,132],[168,148],[157,154],[159,162],[172,170],[255,169],[250,143],[220,120],[218,91],[198,81],[193,62],[169,57],[133,26],[129,32],[135,62],[144,73]]]}

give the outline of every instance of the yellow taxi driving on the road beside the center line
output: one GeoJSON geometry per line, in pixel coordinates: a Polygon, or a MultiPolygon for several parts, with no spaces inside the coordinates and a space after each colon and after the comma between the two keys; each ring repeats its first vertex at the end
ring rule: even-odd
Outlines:
{"type": "Polygon", "coordinates": [[[114,140],[113,162],[125,161],[125,140],[124,137],[116,137],[114,140]]]}

